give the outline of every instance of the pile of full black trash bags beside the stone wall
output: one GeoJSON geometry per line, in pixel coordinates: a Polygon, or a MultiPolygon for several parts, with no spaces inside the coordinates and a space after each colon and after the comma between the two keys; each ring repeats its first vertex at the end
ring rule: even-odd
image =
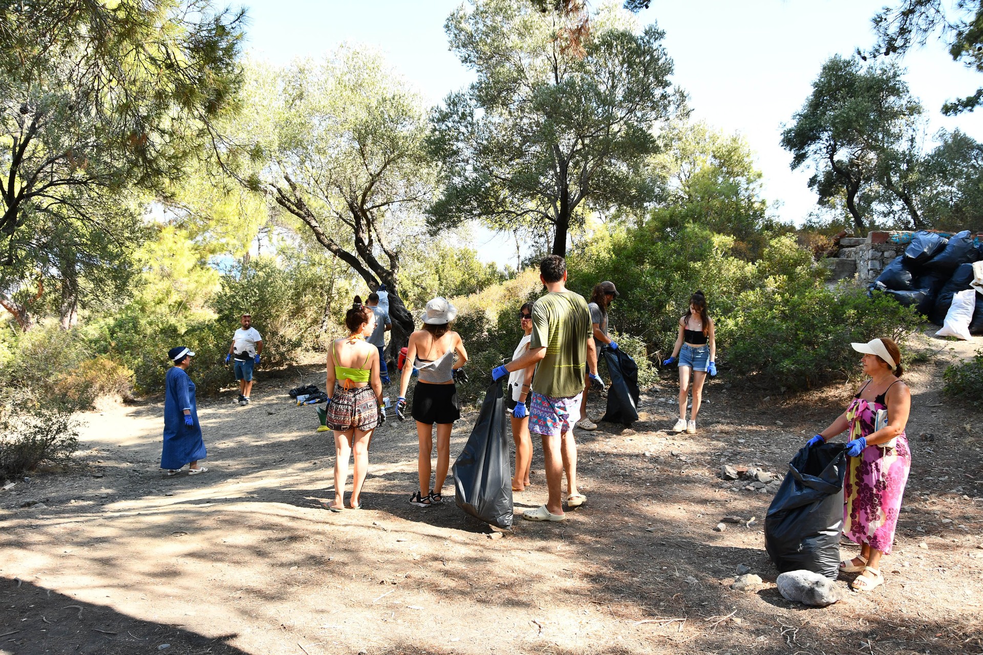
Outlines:
{"type": "MultiPolygon", "coordinates": [[[[968,230],[947,239],[932,232],[916,232],[904,254],[884,267],[868,293],[890,294],[904,306],[937,325],[946,320],[953,296],[973,281],[973,262],[983,259],[983,244],[974,245],[968,230]]],[[[983,334],[983,294],[976,294],[970,334],[983,334]]]]}

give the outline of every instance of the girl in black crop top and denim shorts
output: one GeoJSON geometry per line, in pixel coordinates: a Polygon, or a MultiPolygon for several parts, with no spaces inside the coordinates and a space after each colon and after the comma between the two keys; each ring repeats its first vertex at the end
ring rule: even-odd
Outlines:
{"type": "Polygon", "coordinates": [[[672,427],[675,432],[696,432],[696,415],[703,400],[703,383],[707,373],[717,375],[717,341],[714,338],[714,321],[707,313],[707,298],[697,291],[689,299],[689,312],[679,319],[679,332],[672,348],[672,356],[663,364],[669,365],[679,357],[679,420],[672,427]],[[693,382],[693,403],[689,420],[686,405],[689,397],[690,378],[693,382]]]}

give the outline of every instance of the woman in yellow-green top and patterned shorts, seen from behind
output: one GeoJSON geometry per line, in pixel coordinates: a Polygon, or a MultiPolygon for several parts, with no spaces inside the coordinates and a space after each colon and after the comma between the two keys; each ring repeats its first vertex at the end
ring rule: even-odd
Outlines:
{"type": "Polygon", "coordinates": [[[382,383],[378,376],[378,349],[366,342],[376,327],[372,309],[357,303],[345,314],[347,337],[331,344],[327,354],[327,425],[334,431],[334,501],[327,509],[345,507],[348,458],[355,452],[355,476],[348,508],[358,510],[362,484],[369,468],[369,442],[385,420],[382,383]]]}

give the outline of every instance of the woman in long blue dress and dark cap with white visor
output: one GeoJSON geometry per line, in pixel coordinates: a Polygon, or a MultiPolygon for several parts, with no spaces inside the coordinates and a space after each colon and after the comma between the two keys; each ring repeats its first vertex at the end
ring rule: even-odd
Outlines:
{"type": "Polygon", "coordinates": [[[164,448],[160,467],[168,475],[176,475],[185,464],[188,472],[197,475],[208,470],[198,465],[205,457],[202,425],[198,422],[198,403],[195,383],[188,375],[191,358],[188,348],[178,346],[167,352],[174,365],[167,371],[164,383],[164,448]]]}

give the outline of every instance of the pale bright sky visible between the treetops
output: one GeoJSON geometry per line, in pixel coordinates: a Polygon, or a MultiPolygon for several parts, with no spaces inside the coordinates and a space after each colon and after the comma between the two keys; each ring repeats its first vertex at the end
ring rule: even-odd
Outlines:
{"type": "MultiPolygon", "coordinates": [[[[522,1],[522,0],[516,0],[522,1]]],[[[895,0],[898,2],[899,0],[895,0]]],[[[435,104],[473,76],[447,50],[443,23],[460,0],[246,0],[250,54],[273,64],[320,57],[339,43],[365,43],[435,104]]],[[[596,2],[594,3],[597,4],[596,2]]],[[[890,0],[654,0],[640,13],[643,25],[665,30],[675,64],[672,82],[689,93],[696,119],[739,132],[757,155],[763,195],[779,202],[774,213],[799,223],[815,208],[809,173],[792,172],[781,148],[782,123],[802,106],[829,57],[850,55],[874,41],[870,19],[890,0]]],[[[940,42],[902,61],[907,82],[921,98],[930,134],[941,128],[983,140],[983,110],[948,118],[939,111],[955,96],[969,95],[983,76],[952,61],[940,42]]],[[[515,263],[515,246],[479,231],[482,259],[515,263]]]]}

